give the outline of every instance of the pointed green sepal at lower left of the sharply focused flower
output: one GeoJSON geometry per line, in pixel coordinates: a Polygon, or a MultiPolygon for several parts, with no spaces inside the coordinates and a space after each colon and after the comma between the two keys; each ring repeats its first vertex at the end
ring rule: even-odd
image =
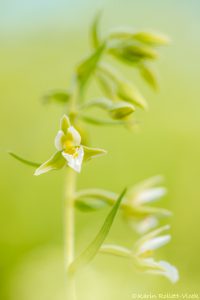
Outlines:
{"type": "Polygon", "coordinates": [[[62,156],[61,151],[56,152],[52,157],[44,162],[34,173],[35,176],[47,173],[52,170],[59,170],[66,164],[66,160],[62,156]]]}

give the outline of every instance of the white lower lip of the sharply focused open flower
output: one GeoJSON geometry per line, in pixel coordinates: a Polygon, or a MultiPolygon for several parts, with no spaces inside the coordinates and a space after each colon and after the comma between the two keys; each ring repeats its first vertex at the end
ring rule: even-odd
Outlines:
{"type": "Polygon", "coordinates": [[[63,151],[62,155],[67,160],[68,166],[80,173],[84,157],[83,147],[77,148],[75,154],[69,154],[63,151]]]}

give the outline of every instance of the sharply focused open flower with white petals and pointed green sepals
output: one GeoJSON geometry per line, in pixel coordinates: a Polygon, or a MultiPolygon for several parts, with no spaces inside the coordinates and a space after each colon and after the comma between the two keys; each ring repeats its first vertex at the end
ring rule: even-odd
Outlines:
{"type": "Polygon", "coordinates": [[[34,175],[61,169],[66,163],[76,172],[80,172],[83,161],[106,153],[103,149],[83,146],[79,132],[71,125],[66,115],[61,119],[60,130],[55,138],[55,147],[58,151],[43,163],[34,175]]]}

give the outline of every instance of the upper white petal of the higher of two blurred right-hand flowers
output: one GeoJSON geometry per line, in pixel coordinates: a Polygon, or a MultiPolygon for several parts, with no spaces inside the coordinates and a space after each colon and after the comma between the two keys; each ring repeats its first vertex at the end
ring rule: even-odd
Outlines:
{"type": "Polygon", "coordinates": [[[164,187],[156,187],[151,189],[146,189],[139,192],[134,199],[134,204],[142,205],[149,202],[154,202],[164,195],[166,195],[167,189],[164,187]]]}

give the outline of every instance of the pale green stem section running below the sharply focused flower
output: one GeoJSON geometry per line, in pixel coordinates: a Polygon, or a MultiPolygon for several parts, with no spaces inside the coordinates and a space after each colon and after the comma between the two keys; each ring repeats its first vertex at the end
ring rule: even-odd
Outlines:
{"type": "Polygon", "coordinates": [[[67,274],[67,300],[75,300],[75,279],[69,274],[68,268],[74,259],[74,193],[76,188],[76,172],[67,168],[65,182],[65,270],[67,274]]]}

